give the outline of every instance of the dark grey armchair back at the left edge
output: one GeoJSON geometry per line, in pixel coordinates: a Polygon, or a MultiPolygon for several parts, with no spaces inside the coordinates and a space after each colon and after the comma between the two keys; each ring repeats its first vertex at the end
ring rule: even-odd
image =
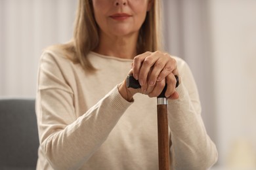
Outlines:
{"type": "Polygon", "coordinates": [[[35,99],[0,99],[0,169],[35,169],[35,99]]]}

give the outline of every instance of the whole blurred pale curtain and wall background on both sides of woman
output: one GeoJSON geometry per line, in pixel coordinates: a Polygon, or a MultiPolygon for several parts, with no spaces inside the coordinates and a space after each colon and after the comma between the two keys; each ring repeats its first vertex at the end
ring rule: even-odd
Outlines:
{"type": "MultiPolygon", "coordinates": [[[[74,0],[0,0],[0,97],[34,98],[43,48],[72,37],[74,0]]],[[[217,144],[212,168],[256,169],[256,1],[163,0],[165,48],[188,62],[217,144]]]]}

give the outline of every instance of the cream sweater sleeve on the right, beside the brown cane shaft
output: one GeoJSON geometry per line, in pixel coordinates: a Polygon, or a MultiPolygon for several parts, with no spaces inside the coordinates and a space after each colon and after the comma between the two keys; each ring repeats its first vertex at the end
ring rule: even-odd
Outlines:
{"type": "Polygon", "coordinates": [[[194,77],[180,61],[179,99],[169,100],[168,121],[171,129],[171,166],[173,169],[208,169],[217,161],[217,149],[201,116],[201,104],[194,77]]]}

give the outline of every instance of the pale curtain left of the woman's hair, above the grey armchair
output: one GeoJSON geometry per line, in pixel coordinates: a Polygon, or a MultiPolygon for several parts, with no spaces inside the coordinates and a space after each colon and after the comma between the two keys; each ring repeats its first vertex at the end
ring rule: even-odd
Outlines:
{"type": "Polygon", "coordinates": [[[76,1],[0,1],[0,96],[35,97],[42,50],[72,37],[76,1]]]}

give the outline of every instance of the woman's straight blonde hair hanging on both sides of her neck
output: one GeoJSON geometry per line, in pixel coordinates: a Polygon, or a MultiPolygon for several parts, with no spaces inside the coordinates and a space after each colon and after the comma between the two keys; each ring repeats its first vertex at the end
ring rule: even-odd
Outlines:
{"type": "MultiPolygon", "coordinates": [[[[161,0],[153,1],[152,8],[147,12],[146,19],[140,28],[137,54],[146,51],[162,50],[161,39],[161,0]]],[[[75,63],[80,63],[86,71],[95,71],[89,62],[87,54],[98,46],[98,25],[93,15],[91,0],[79,0],[72,41],[61,46],[68,52],[68,57],[75,63]]]]}

